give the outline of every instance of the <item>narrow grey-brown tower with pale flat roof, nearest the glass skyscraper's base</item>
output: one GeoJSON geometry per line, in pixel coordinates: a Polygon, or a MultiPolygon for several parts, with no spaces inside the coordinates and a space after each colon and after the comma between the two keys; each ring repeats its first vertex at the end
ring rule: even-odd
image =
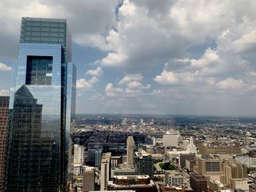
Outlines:
{"type": "Polygon", "coordinates": [[[83,170],[83,192],[94,191],[95,168],[86,166],[83,170]]]}

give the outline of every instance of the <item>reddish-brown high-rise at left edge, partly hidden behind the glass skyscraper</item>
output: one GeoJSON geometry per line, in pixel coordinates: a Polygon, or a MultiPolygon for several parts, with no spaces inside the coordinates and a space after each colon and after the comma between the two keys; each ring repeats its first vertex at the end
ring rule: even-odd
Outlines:
{"type": "Polygon", "coordinates": [[[3,190],[4,155],[7,137],[9,96],[0,96],[0,191],[3,190]]]}

